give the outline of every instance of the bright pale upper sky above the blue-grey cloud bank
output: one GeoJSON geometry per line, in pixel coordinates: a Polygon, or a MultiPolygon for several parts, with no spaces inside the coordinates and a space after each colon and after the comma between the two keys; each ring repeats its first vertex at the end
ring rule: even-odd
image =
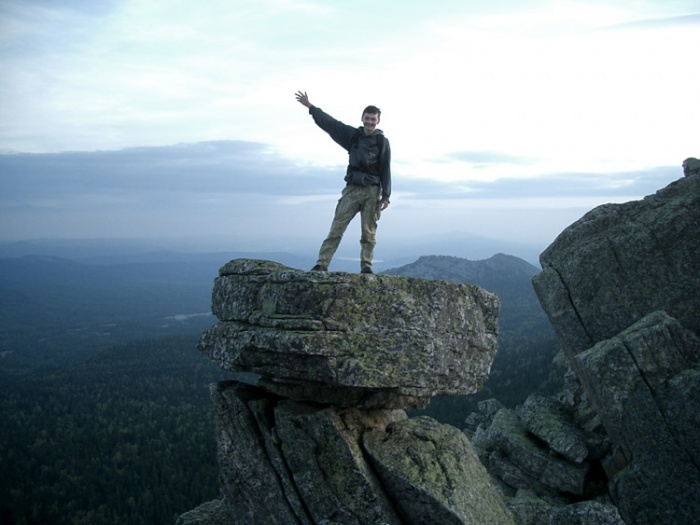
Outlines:
{"type": "Polygon", "coordinates": [[[299,88],[351,123],[377,103],[397,159],[411,162],[503,151],[556,161],[579,154],[588,169],[611,157],[648,166],[688,147],[680,128],[697,120],[691,26],[683,34],[598,31],[640,17],[680,23],[687,17],[672,15],[687,3],[0,5],[6,150],[234,138],[338,162],[303,127],[292,97],[299,88]]]}

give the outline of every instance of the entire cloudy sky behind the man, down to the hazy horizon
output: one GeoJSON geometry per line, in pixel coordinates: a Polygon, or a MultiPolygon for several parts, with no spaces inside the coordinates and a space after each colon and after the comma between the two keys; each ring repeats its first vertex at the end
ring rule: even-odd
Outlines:
{"type": "Polygon", "coordinates": [[[698,36],[697,0],[0,0],[0,242],[317,250],[347,155],[303,90],[382,109],[378,258],[538,253],[700,157],[698,36]]]}

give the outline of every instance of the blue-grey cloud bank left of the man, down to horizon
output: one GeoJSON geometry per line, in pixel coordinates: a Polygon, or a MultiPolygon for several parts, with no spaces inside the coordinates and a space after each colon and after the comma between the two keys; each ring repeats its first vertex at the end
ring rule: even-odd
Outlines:
{"type": "Polygon", "coordinates": [[[309,206],[290,198],[325,195],[332,205],[342,185],[340,169],[298,166],[244,141],[6,154],[0,237],[269,238],[304,220],[313,231],[309,206]]]}

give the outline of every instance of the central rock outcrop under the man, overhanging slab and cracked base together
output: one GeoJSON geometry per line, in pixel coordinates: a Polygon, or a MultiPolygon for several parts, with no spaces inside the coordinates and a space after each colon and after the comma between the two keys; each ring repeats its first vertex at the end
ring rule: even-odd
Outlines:
{"type": "Polygon", "coordinates": [[[212,387],[223,497],[180,523],[514,523],[466,436],[403,410],[486,381],[493,294],[236,260],[213,311],[199,349],[238,374],[212,387]]]}

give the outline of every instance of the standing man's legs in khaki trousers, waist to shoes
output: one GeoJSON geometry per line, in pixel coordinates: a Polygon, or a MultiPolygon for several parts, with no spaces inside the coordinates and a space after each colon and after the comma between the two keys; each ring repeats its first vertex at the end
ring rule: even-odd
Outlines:
{"type": "Polygon", "coordinates": [[[328,268],[333,254],[335,254],[343,238],[345,229],[359,212],[362,231],[360,237],[360,266],[362,269],[372,269],[377,221],[381,213],[379,208],[380,193],[379,186],[345,186],[338,200],[338,205],[335,207],[335,216],[331,223],[331,230],[328,232],[328,237],[323,241],[318,252],[317,265],[325,269],[328,268]]]}

